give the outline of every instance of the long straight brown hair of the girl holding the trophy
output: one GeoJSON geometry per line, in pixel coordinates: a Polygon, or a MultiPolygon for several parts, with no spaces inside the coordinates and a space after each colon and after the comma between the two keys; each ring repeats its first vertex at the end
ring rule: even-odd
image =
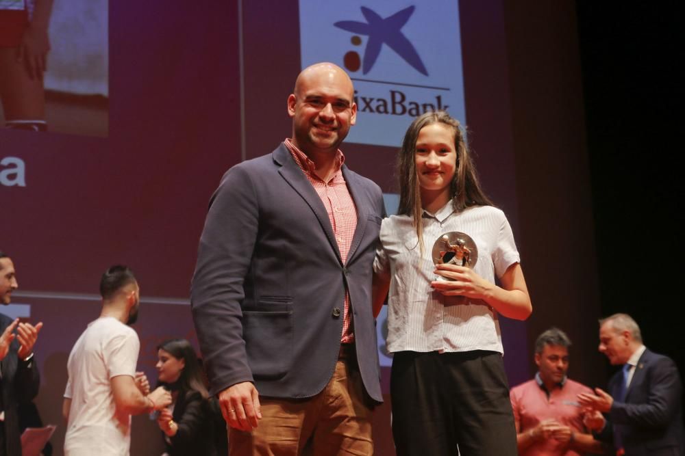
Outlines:
{"type": "Polygon", "coordinates": [[[424,126],[434,123],[449,126],[454,131],[454,149],[457,152],[457,169],[450,184],[452,206],[460,212],[471,206],[494,206],[480,187],[471,153],[464,141],[464,131],[458,120],[446,111],[428,111],[414,119],[404,135],[402,148],[397,154],[397,176],[399,177],[399,215],[414,219],[414,227],[423,252],[423,224],[421,216],[421,188],[416,173],[416,139],[424,126]]]}

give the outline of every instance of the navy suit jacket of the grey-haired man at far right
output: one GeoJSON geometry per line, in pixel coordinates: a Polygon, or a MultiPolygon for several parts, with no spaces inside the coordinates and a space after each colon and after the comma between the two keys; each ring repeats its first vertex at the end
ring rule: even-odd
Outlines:
{"type": "MultiPolygon", "coordinates": [[[[609,381],[609,393],[619,397],[623,372],[609,381]]],[[[614,400],[608,414],[610,433],[621,433],[626,456],[684,455],[682,381],[673,360],[645,350],[635,367],[625,401],[614,400]]]]}

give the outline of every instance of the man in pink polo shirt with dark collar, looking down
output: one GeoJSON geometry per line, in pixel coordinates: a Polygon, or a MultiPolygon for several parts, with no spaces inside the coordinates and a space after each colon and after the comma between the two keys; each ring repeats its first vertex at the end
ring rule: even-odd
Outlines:
{"type": "Polygon", "coordinates": [[[535,378],[512,388],[516,442],[521,456],[577,456],[603,453],[583,424],[577,394],[590,388],[566,377],[571,340],[556,327],[535,343],[535,378]]]}

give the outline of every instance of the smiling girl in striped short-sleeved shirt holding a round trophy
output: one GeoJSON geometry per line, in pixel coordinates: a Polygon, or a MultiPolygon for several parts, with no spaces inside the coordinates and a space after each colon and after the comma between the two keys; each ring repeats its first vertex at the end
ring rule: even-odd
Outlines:
{"type": "Polygon", "coordinates": [[[532,305],[512,230],[445,111],[412,122],[398,174],[399,210],[382,222],[374,262],[376,314],[390,290],[397,455],[516,455],[499,317],[525,320],[532,305]],[[468,261],[434,255],[450,236],[473,241],[468,261]]]}

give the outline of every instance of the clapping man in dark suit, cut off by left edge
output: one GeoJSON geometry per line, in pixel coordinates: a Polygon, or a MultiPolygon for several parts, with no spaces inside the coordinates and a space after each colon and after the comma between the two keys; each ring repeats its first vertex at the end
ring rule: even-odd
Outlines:
{"type": "MultiPolygon", "coordinates": [[[[10,304],[17,286],[14,264],[0,251],[0,304],[10,304]]],[[[21,456],[17,409],[38,394],[34,345],[41,327],[42,323],[19,323],[0,313],[0,456],[21,456]]]]}

